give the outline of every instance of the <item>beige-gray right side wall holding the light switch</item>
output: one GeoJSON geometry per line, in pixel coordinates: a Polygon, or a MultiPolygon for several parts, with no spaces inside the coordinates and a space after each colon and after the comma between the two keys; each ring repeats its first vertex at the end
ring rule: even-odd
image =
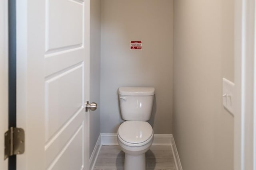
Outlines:
{"type": "Polygon", "coordinates": [[[234,1],[174,1],[173,133],[184,170],[233,170],[234,1]]]}

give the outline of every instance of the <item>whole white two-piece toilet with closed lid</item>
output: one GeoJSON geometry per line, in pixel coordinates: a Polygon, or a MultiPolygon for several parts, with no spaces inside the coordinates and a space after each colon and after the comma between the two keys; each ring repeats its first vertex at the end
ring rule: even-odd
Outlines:
{"type": "Polygon", "coordinates": [[[118,144],[125,152],[124,170],[146,170],[145,153],[153,142],[150,119],[154,88],[120,87],[118,89],[121,115],[124,120],[117,132],[118,144]]]}

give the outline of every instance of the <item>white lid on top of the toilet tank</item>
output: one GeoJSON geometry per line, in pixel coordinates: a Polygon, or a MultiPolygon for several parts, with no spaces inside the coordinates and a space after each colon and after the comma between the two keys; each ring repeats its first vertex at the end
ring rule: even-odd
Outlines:
{"type": "Polygon", "coordinates": [[[118,94],[126,96],[151,96],[155,94],[153,87],[120,87],[118,94]]]}

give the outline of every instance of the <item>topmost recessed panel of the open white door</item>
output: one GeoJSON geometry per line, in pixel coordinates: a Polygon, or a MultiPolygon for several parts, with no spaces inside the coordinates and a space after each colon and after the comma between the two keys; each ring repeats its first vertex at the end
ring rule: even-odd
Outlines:
{"type": "Polygon", "coordinates": [[[83,2],[82,0],[46,1],[46,52],[57,48],[82,46],[83,2]]]}

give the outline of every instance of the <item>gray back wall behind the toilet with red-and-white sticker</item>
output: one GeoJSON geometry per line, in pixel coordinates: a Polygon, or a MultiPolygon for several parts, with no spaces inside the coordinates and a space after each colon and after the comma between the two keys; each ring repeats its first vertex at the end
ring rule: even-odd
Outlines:
{"type": "Polygon", "coordinates": [[[101,1],[101,133],[122,123],[118,87],[152,86],[154,133],[172,133],[172,0],[101,1]],[[142,50],[130,50],[130,41],[142,50]]]}

